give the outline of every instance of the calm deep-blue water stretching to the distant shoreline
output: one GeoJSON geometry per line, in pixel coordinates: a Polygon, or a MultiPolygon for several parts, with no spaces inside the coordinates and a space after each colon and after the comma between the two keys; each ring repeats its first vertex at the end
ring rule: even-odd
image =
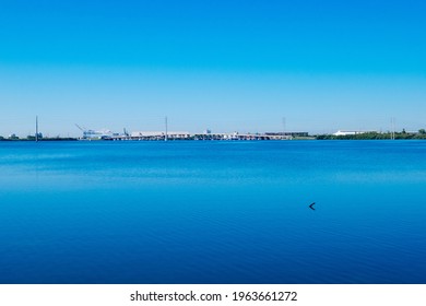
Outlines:
{"type": "Polygon", "coordinates": [[[425,186],[423,141],[0,142],[0,283],[426,283],[425,186]]]}

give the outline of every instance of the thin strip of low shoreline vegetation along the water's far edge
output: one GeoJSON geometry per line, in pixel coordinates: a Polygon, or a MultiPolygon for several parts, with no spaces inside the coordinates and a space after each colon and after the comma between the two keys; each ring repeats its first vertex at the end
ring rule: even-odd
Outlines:
{"type": "MultiPolygon", "coordinates": [[[[44,138],[39,137],[37,140],[35,136],[28,136],[26,138],[19,138],[14,134],[4,138],[0,136],[0,141],[164,141],[165,138],[159,137],[155,139],[113,139],[113,138],[103,138],[103,139],[82,139],[82,138],[72,138],[72,137],[55,137],[55,138],[44,138]]],[[[401,132],[359,132],[354,134],[315,134],[315,136],[305,136],[305,137],[288,137],[283,136],[280,138],[269,138],[264,134],[250,134],[250,137],[236,137],[232,139],[218,139],[213,137],[201,137],[190,136],[186,138],[167,138],[167,141],[177,141],[177,140],[189,140],[189,141],[238,141],[238,140],[251,140],[251,141],[276,141],[276,140],[426,140],[426,131],[424,129],[418,130],[418,132],[406,132],[402,130],[401,132]]]]}

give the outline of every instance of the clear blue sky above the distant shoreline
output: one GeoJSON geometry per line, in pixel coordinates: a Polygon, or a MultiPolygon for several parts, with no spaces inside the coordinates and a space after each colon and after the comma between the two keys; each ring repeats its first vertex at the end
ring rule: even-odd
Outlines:
{"type": "Polygon", "coordinates": [[[0,136],[426,128],[426,2],[347,2],[0,0],[0,136]]]}

